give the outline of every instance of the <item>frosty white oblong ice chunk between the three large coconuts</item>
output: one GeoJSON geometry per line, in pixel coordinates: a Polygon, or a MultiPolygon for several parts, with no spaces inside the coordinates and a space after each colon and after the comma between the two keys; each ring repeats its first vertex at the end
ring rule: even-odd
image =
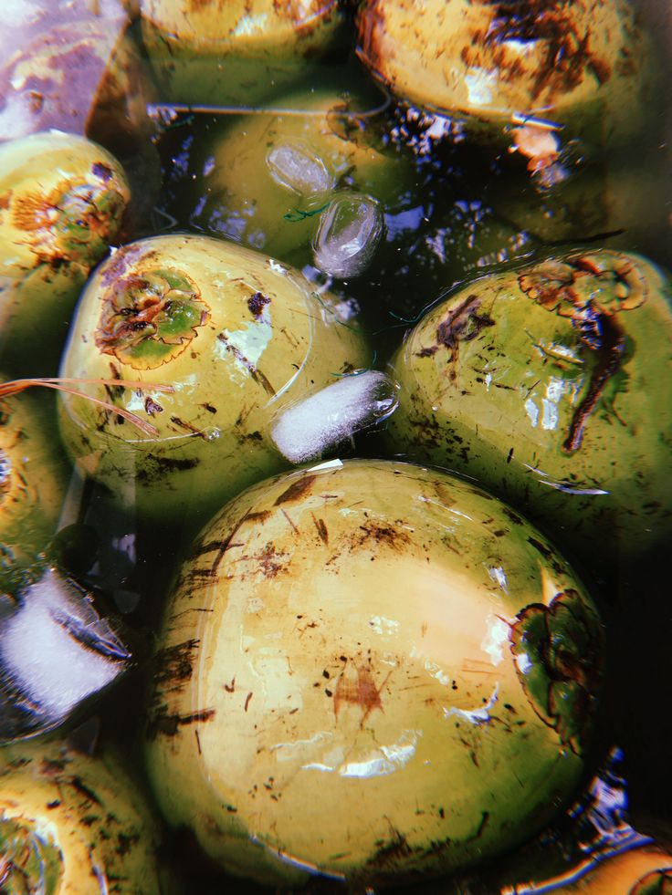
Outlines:
{"type": "Polygon", "coordinates": [[[273,426],[273,441],[291,463],[316,460],[354,432],[388,417],[396,405],[396,387],[385,373],[353,373],[284,411],[273,426]]]}

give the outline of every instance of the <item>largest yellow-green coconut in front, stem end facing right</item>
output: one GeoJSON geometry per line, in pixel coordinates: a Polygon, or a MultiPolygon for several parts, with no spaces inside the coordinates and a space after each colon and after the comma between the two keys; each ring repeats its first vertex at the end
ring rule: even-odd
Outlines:
{"type": "Polygon", "coordinates": [[[148,769],[231,872],[399,883],[530,837],[584,767],[590,598],[472,484],[332,461],[195,542],[156,656],[148,769]]]}

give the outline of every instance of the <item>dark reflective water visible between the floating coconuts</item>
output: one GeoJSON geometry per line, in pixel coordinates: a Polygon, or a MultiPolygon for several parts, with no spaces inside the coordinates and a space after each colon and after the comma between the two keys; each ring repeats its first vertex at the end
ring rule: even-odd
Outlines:
{"type": "MultiPolygon", "coordinates": [[[[652,0],[643,7],[647,19],[656,25],[656,39],[663,50],[670,46],[663,28],[664,5],[662,0],[652,0]]],[[[371,92],[371,85],[352,53],[343,54],[325,69],[325,84],[339,83],[343,78],[354,85],[361,80],[371,92]]],[[[670,152],[666,140],[671,126],[664,87],[659,99],[659,109],[653,110],[648,130],[636,146],[613,157],[595,152],[587,165],[588,174],[594,174],[596,182],[614,182],[610,180],[614,171],[622,173],[630,165],[640,166],[641,181],[635,177],[629,187],[633,195],[630,207],[636,204],[638,182],[651,195],[651,202],[644,207],[636,204],[635,216],[624,217],[615,224],[612,221],[607,232],[591,221],[575,221],[571,233],[568,230],[549,238],[501,212],[503,192],[519,191],[523,201],[530,203],[543,198],[530,192],[524,161],[501,149],[474,147],[449,137],[427,142],[428,122],[415,113],[409,115],[394,101],[388,102],[384,92],[376,88],[371,102],[379,102],[384,109],[373,116],[369,139],[377,146],[383,145],[392,156],[404,156],[412,176],[394,213],[386,217],[386,235],[372,265],[362,276],[331,285],[332,291],[344,299],[354,299],[361,308],[362,326],[371,338],[372,366],[384,369],[386,359],[425,307],[457,284],[502,262],[545,255],[567,245],[599,245],[628,248],[658,264],[669,265],[670,152]],[[408,151],[409,142],[417,148],[423,141],[427,151],[408,151]],[[651,189],[652,181],[658,189],[651,189]]],[[[212,200],[204,170],[208,168],[209,156],[203,150],[218,132],[226,133],[227,128],[239,124],[240,116],[178,109],[170,116],[163,115],[163,119],[155,140],[162,163],[163,190],[147,210],[137,232],[131,235],[189,231],[240,239],[230,222],[218,220],[208,205],[212,205],[212,200]]],[[[562,206],[562,193],[552,201],[562,206]]],[[[599,192],[595,201],[601,201],[599,192]]],[[[291,220],[287,226],[293,226],[291,220]]],[[[317,282],[324,281],[317,271],[310,270],[308,245],[281,260],[304,268],[308,265],[310,276],[315,276],[317,282]]],[[[358,436],[352,451],[364,456],[384,453],[376,432],[358,436]]],[[[86,484],[82,506],[80,527],[71,543],[61,545],[62,557],[84,584],[114,592],[117,609],[122,610],[138,657],[136,667],[94,707],[93,714],[100,740],[121,743],[141,766],[138,733],[144,723],[143,696],[154,633],[176,557],[184,548],[183,533],[179,527],[147,526],[142,521],[130,522],[123,514],[115,516],[109,495],[100,485],[86,484]],[[132,553],[110,548],[110,532],[117,536],[132,534],[132,553]],[[92,546],[89,542],[82,546],[85,536],[93,538],[92,546]],[[96,557],[95,563],[90,561],[91,556],[96,557]]],[[[636,564],[610,568],[578,565],[592,586],[608,630],[607,685],[593,751],[593,770],[614,746],[620,747],[623,760],[618,773],[624,775],[626,784],[618,786],[627,790],[632,822],[640,832],[667,837],[672,846],[667,826],[672,796],[672,604],[667,549],[641,557],[636,564]]],[[[91,710],[85,714],[91,714],[91,710]]],[[[86,728],[85,735],[89,734],[90,728],[86,728]]],[[[578,821],[564,823],[569,832],[560,830],[556,843],[563,836],[562,841],[566,842],[580,835],[578,821]]],[[[585,835],[590,838],[590,833],[585,835]]],[[[549,848],[552,851],[554,847],[549,848]]],[[[257,890],[251,884],[222,878],[184,831],[168,836],[163,860],[171,873],[183,876],[188,892],[257,890]]],[[[457,891],[488,892],[490,879],[484,871],[482,877],[477,874],[456,884],[457,891]]],[[[319,890],[320,883],[315,888],[319,890]]],[[[443,888],[439,884],[432,890],[450,889],[446,882],[443,888]]]]}

